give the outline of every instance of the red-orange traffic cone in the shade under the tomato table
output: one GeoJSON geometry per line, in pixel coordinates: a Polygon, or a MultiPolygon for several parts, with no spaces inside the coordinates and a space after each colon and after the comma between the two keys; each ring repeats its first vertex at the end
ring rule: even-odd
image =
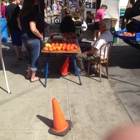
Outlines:
{"type": "Polygon", "coordinates": [[[70,57],[67,56],[67,58],[66,58],[66,60],[65,60],[65,62],[63,64],[63,66],[62,66],[62,68],[60,70],[60,72],[61,72],[62,75],[68,75],[68,71],[69,71],[69,59],[70,59],[70,57]]]}

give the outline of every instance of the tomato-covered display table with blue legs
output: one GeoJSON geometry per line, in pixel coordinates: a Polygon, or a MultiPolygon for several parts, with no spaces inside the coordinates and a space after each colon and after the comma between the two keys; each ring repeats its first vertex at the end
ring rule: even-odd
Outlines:
{"type": "Polygon", "coordinates": [[[45,82],[44,86],[47,86],[47,78],[48,78],[48,69],[50,63],[50,54],[62,53],[69,55],[73,60],[73,65],[75,68],[75,73],[78,76],[79,84],[82,85],[79,70],[76,64],[75,55],[77,53],[81,53],[81,49],[78,44],[78,40],[76,38],[76,34],[74,33],[52,33],[49,36],[49,39],[45,43],[43,47],[42,53],[46,54],[47,62],[46,62],[46,70],[45,70],[45,82]]]}

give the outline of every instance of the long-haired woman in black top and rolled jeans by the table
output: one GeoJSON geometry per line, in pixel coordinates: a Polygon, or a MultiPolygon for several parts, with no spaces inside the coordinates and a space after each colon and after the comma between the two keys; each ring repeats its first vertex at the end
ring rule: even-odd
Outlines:
{"type": "Polygon", "coordinates": [[[19,27],[22,30],[21,40],[29,54],[28,73],[26,79],[31,82],[39,80],[36,71],[42,66],[40,61],[41,42],[43,41],[44,22],[37,10],[38,0],[24,0],[19,14],[19,27]]]}

